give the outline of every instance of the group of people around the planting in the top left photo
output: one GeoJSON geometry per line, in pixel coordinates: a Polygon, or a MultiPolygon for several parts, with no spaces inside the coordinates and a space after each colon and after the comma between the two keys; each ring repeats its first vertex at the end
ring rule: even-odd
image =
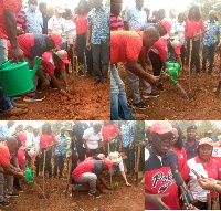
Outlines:
{"type": "MultiPolygon", "coordinates": [[[[78,6],[71,9],[55,7],[52,17],[48,14],[46,3],[38,0],[29,0],[25,9],[21,9],[21,0],[0,3],[0,64],[11,59],[14,62],[25,59],[32,70],[34,57],[42,57],[34,87],[25,93],[24,102],[43,101],[42,87],[57,89],[62,95],[71,93],[67,78],[71,66],[77,76],[85,75],[85,80],[94,76],[94,85],[99,82],[107,85],[109,8],[103,0],[80,0],[78,6]],[[59,82],[60,76],[64,84],[59,82]]],[[[27,112],[28,104],[15,104],[13,97],[0,91],[0,115],[27,112]]]]}

